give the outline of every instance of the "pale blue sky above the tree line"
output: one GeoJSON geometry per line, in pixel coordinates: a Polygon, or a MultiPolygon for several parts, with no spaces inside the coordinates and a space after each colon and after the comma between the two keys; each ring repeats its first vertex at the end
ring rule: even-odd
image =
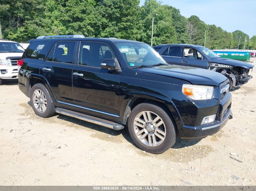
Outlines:
{"type": "MultiPolygon", "coordinates": [[[[140,0],[143,5],[145,0],[140,0]]],[[[181,15],[198,16],[206,24],[233,32],[241,30],[250,37],[256,35],[255,0],[161,0],[162,4],[171,5],[180,10],[181,15]]]]}

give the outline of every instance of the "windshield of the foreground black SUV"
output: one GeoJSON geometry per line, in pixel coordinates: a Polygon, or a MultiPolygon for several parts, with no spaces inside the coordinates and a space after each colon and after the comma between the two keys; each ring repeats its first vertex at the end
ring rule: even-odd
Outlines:
{"type": "Polygon", "coordinates": [[[159,63],[167,64],[151,46],[145,43],[115,43],[130,68],[141,65],[149,66],[159,63]]]}

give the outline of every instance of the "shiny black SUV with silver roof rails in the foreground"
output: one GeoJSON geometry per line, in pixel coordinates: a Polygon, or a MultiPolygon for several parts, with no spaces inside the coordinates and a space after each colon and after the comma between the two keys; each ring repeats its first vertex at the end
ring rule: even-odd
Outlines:
{"type": "Polygon", "coordinates": [[[19,89],[38,116],[72,116],[128,127],[141,149],[162,153],[232,118],[229,81],[217,72],[167,64],[145,43],[82,35],[32,40],[18,61],[19,89]]]}

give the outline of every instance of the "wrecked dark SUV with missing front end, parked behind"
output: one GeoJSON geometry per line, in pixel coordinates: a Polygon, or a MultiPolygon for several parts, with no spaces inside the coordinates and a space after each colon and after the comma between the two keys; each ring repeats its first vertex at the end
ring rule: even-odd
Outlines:
{"type": "Polygon", "coordinates": [[[252,78],[254,65],[238,60],[221,58],[210,49],[200,45],[161,44],[154,49],[169,64],[191,66],[213,70],[225,75],[229,80],[229,89],[240,86],[252,78]]]}

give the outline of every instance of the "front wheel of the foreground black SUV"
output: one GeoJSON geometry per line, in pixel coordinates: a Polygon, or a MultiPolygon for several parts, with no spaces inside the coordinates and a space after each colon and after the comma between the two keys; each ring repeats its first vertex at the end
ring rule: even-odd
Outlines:
{"type": "Polygon", "coordinates": [[[132,140],[139,148],[149,153],[160,154],[175,144],[178,131],[168,113],[169,111],[151,103],[138,104],[131,110],[128,118],[128,131],[132,140]],[[150,113],[150,115],[148,115],[147,112],[150,113]],[[160,119],[157,120],[157,117],[160,117],[160,119]],[[148,120],[149,118],[151,118],[151,120],[148,120]],[[147,121],[152,121],[152,123],[147,123],[147,121]],[[163,124],[158,126],[161,124],[160,122],[163,122],[163,124]],[[159,138],[159,135],[164,139],[159,138]]]}

